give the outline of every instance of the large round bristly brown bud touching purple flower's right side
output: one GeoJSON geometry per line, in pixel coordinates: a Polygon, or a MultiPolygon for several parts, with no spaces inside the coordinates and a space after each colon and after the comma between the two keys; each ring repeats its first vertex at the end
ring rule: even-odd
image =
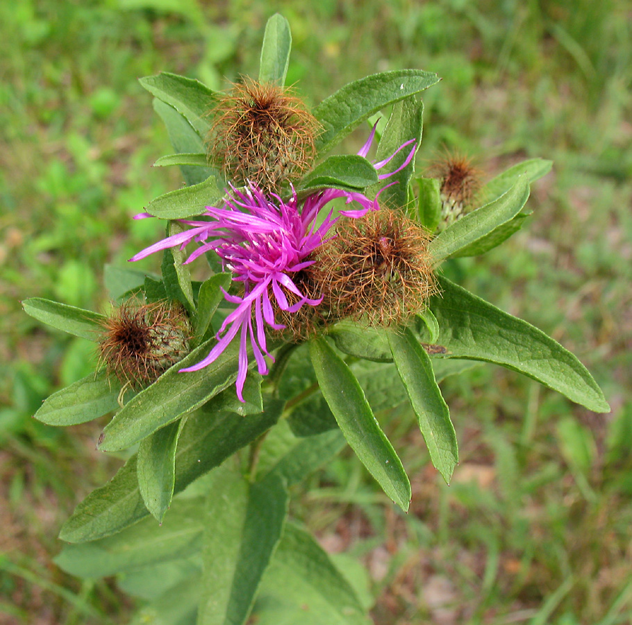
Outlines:
{"type": "Polygon", "coordinates": [[[405,322],[437,292],[430,234],[399,210],[344,219],[319,254],[323,306],[373,326],[405,322]]]}

